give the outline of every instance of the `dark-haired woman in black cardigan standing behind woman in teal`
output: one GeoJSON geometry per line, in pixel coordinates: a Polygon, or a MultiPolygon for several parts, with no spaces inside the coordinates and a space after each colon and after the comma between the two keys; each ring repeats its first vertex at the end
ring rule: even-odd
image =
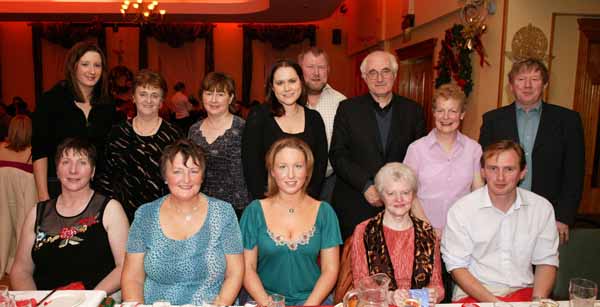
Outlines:
{"type": "Polygon", "coordinates": [[[271,69],[266,84],[266,103],[248,115],[242,138],[242,163],[248,189],[255,199],[265,197],[265,154],[276,140],[295,136],[311,148],[315,165],[308,194],[318,198],[327,168],[325,124],[317,111],[306,107],[302,69],[291,60],[280,60],[271,69]]]}

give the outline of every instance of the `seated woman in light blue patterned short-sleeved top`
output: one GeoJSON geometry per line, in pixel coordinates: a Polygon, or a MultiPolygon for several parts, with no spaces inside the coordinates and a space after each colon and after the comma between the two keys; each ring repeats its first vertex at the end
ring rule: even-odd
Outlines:
{"type": "Polygon", "coordinates": [[[188,140],[165,148],[170,194],[140,207],[129,232],[123,299],[174,305],[234,302],[244,275],[242,239],[230,204],[199,193],[202,149],[188,140]]]}

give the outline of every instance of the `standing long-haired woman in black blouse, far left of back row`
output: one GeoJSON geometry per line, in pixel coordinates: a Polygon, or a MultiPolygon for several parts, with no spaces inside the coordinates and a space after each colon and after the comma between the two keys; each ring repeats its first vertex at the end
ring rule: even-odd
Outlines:
{"type": "MultiPolygon", "coordinates": [[[[58,144],[69,137],[84,137],[101,153],[114,114],[102,50],[94,43],[77,43],[67,54],[65,80],[42,95],[33,113],[31,151],[40,201],[60,194],[53,159],[58,144]]],[[[99,170],[102,161],[99,156],[99,170]]]]}

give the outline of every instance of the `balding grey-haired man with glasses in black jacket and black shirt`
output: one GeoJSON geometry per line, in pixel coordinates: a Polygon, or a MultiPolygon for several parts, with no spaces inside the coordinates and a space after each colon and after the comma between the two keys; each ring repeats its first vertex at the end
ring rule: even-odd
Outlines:
{"type": "Polygon", "coordinates": [[[421,107],[392,92],[398,72],[394,55],[374,51],[360,65],[369,93],[340,103],[329,158],[338,176],[332,205],[342,236],[381,210],[373,185],[388,162],[402,162],[408,145],[425,134],[421,107]]]}

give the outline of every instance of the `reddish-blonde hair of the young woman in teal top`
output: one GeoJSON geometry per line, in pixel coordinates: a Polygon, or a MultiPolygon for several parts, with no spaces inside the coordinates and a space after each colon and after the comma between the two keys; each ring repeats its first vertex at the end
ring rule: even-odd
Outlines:
{"type": "Polygon", "coordinates": [[[304,185],[302,186],[302,190],[306,191],[308,187],[308,183],[312,177],[312,170],[315,164],[315,158],[312,154],[312,150],[306,142],[297,138],[297,137],[285,137],[277,140],[275,143],[271,145],[269,151],[267,151],[267,155],[265,157],[265,165],[267,167],[268,173],[268,181],[267,181],[267,197],[271,197],[279,193],[279,187],[275,182],[275,178],[271,175],[271,171],[273,170],[273,166],[275,165],[275,157],[279,152],[281,152],[285,148],[297,149],[304,154],[304,159],[306,160],[306,181],[304,181],[304,185]]]}

